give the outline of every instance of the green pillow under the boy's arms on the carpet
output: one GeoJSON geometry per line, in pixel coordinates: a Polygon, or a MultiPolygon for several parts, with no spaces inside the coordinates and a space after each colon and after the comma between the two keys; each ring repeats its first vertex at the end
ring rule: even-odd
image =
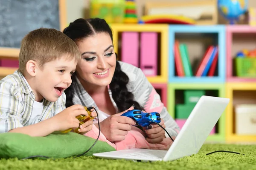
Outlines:
{"type": "MultiPolygon", "coordinates": [[[[26,158],[28,156],[47,156],[66,158],[87,151],[95,139],[78,133],[54,132],[45,137],[31,137],[22,133],[0,134],[0,158],[26,158]]],[[[85,156],[93,153],[114,151],[107,142],[97,141],[85,156]]]]}

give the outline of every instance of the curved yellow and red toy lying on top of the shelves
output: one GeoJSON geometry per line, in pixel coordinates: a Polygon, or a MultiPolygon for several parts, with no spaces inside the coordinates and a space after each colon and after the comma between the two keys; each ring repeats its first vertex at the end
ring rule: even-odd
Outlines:
{"type": "Polygon", "coordinates": [[[140,23],[167,23],[167,24],[195,24],[195,20],[183,15],[175,14],[155,14],[144,15],[141,17],[140,23]]]}

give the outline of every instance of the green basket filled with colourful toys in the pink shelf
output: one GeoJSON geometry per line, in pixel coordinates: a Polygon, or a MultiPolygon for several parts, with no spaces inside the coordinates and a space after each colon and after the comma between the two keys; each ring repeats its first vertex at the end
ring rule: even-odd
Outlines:
{"type": "Polygon", "coordinates": [[[256,78],[256,49],[238,52],[235,60],[238,77],[256,78]]]}

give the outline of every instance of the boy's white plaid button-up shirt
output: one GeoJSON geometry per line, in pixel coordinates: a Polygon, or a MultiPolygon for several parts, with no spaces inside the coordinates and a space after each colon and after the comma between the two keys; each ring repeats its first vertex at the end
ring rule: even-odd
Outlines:
{"type": "Polygon", "coordinates": [[[56,102],[43,100],[43,111],[38,120],[32,122],[35,94],[22,73],[15,71],[0,81],[0,133],[17,127],[44,121],[65,109],[66,95],[62,93],[56,102]]]}

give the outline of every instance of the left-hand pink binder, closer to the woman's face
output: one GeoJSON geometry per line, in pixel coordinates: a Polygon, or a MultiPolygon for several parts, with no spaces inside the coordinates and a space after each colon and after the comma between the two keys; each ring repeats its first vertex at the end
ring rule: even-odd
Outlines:
{"type": "Polygon", "coordinates": [[[121,60],[139,67],[139,33],[123,32],[121,60]]]}

